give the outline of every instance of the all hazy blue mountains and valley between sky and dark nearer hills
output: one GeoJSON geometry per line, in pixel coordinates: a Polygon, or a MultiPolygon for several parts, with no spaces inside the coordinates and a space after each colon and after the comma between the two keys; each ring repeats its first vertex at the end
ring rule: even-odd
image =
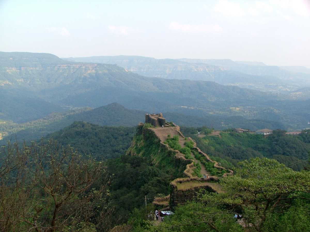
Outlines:
{"type": "MultiPolygon", "coordinates": [[[[261,63],[241,64],[231,60],[199,61],[199,65],[210,62],[212,66],[206,66],[212,67],[210,71],[179,68],[180,64],[193,67],[196,65],[193,62],[198,62],[197,60],[185,62],[125,56],[64,60],[52,54],[19,52],[1,52],[0,58],[2,137],[13,131],[29,130],[32,127],[29,125],[38,125],[27,122],[48,121],[40,118],[44,119],[51,113],[53,115],[48,118],[63,118],[64,115],[84,111],[84,108],[89,110],[113,102],[131,110],[166,112],[171,114],[171,121],[186,115],[193,117],[187,122],[180,122],[180,125],[185,126],[204,124],[216,129],[246,127],[251,130],[270,127],[291,131],[307,127],[309,121],[310,95],[309,87],[305,87],[307,82],[303,82],[303,88],[299,90],[292,86],[286,86],[286,90],[281,91],[267,88],[260,91],[236,86],[237,82],[245,83],[243,81],[246,79],[252,88],[259,89],[259,83],[264,83],[263,80],[289,83],[293,82],[290,79],[294,76],[296,78],[292,85],[301,87],[300,79],[310,79],[310,74],[306,71],[292,72],[261,63]],[[82,60],[90,63],[81,62],[82,60]],[[95,63],[96,61],[111,64],[95,63]],[[115,62],[118,64],[112,64],[115,62]],[[249,74],[254,71],[259,75],[249,74]],[[266,73],[274,76],[267,78],[266,73]],[[11,105],[18,107],[12,108],[11,105]],[[71,111],[65,113],[68,110],[71,111]],[[55,116],[55,113],[63,116],[55,116]],[[194,118],[200,118],[201,123],[195,123],[194,118]],[[12,129],[17,127],[20,129],[12,129]]],[[[141,117],[138,118],[143,121],[141,117]]],[[[93,122],[90,118],[87,120],[93,122]]],[[[130,120],[123,124],[133,125],[130,120]]],[[[47,132],[53,131],[47,130],[45,133],[47,132]]],[[[24,136],[27,137],[27,134],[24,136]]]]}

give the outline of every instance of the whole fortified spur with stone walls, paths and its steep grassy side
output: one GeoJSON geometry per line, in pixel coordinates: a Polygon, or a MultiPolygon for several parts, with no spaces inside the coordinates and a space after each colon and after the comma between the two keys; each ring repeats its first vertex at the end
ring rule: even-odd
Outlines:
{"type": "Polygon", "coordinates": [[[153,165],[170,167],[178,176],[170,183],[170,194],[155,198],[153,204],[173,210],[177,204],[191,200],[200,189],[209,192],[223,191],[218,183],[219,178],[233,174],[232,170],[226,170],[218,162],[212,161],[197,148],[191,138],[184,137],[179,126],[166,123],[162,114],[146,114],[145,119],[145,124],[138,125],[137,134],[127,155],[149,157],[153,165]],[[167,139],[171,138],[178,142],[179,149],[168,145],[167,139]],[[186,147],[190,147],[190,150],[186,147]],[[182,153],[184,148],[190,151],[190,154],[182,153]],[[216,175],[211,175],[206,169],[205,166],[210,164],[218,170],[216,175]]]}

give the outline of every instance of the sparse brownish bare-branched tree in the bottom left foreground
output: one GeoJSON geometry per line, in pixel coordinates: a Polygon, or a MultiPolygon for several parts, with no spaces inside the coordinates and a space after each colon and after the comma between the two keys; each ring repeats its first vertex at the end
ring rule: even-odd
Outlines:
{"type": "Polygon", "coordinates": [[[2,231],[108,228],[110,177],[103,162],[55,141],[8,144],[0,157],[2,231]]]}

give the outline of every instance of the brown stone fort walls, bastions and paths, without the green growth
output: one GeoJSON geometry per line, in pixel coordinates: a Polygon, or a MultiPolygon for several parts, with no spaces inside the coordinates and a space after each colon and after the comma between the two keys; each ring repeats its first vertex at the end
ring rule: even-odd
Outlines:
{"type": "MultiPolygon", "coordinates": [[[[170,194],[165,197],[155,198],[153,204],[157,205],[157,207],[165,209],[170,208],[173,210],[177,204],[184,204],[187,200],[192,200],[193,197],[197,195],[199,189],[204,189],[209,192],[222,192],[221,186],[218,183],[219,177],[208,176],[208,178],[199,178],[197,175],[193,176],[193,171],[196,168],[194,164],[199,161],[197,161],[196,158],[185,158],[183,153],[170,148],[170,146],[165,143],[168,135],[169,137],[178,136],[181,147],[184,147],[187,141],[193,140],[189,137],[185,138],[180,128],[174,123],[168,124],[166,121],[160,121],[158,119],[165,120],[162,114],[146,114],[145,122],[152,124],[154,127],[144,127],[143,123],[140,123],[138,126],[137,134],[142,135],[144,141],[152,140],[152,143],[157,144],[157,146],[159,145],[158,154],[160,154],[160,157],[153,153],[146,155],[152,156],[154,165],[160,165],[163,159],[166,159],[166,161],[169,160],[170,164],[172,164],[175,169],[183,172],[183,177],[172,180],[170,182],[170,194]],[[163,122],[165,122],[164,128],[162,128],[163,122]]],[[[139,150],[135,148],[137,145],[138,144],[132,143],[127,154],[137,155],[136,150],[139,150]]],[[[218,162],[211,160],[207,154],[203,153],[194,141],[191,150],[205,157],[207,161],[213,162],[215,168],[227,171],[218,162]]],[[[194,157],[193,153],[192,156],[194,157]]],[[[222,177],[233,174],[232,170],[228,171],[229,172],[224,173],[222,177]]],[[[206,170],[204,173],[206,173],[206,170]]]]}

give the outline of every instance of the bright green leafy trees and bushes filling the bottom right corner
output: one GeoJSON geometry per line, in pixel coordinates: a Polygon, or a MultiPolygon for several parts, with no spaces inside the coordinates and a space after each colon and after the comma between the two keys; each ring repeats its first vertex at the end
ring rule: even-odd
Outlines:
{"type": "Polygon", "coordinates": [[[222,178],[224,193],[201,190],[196,200],[147,231],[307,231],[310,225],[310,175],[276,160],[254,158],[222,178]],[[241,214],[242,219],[235,219],[241,214]],[[236,221],[238,223],[236,223],[236,221]]]}

